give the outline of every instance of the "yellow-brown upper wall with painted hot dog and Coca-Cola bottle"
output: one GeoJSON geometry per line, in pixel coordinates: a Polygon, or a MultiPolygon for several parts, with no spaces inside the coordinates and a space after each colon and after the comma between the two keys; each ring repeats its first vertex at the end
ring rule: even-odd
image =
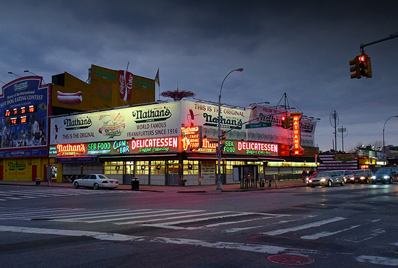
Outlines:
{"type": "Polygon", "coordinates": [[[69,73],[54,77],[57,78],[54,79],[57,82],[54,82],[52,95],[54,107],[92,111],[155,100],[154,80],[128,71],[91,65],[87,82],[69,73]],[[58,79],[58,76],[63,79],[58,79]]]}

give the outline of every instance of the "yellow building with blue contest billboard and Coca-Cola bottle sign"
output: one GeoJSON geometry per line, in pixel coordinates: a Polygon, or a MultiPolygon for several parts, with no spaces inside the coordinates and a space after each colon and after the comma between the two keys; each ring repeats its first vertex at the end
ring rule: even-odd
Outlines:
{"type": "Polygon", "coordinates": [[[61,182],[62,169],[49,158],[51,117],[152,102],[154,96],[154,80],[95,65],[86,82],[62,73],[51,84],[39,76],[5,84],[0,92],[0,180],[61,182]]]}

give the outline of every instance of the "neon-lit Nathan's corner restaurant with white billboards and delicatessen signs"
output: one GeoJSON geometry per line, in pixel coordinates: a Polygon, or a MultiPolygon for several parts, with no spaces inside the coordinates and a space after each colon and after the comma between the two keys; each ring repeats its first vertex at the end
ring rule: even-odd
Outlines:
{"type": "MultiPolygon", "coordinates": [[[[314,155],[304,155],[307,147],[300,143],[313,143],[314,124],[297,117],[296,130],[285,130],[273,110],[222,109],[222,128],[230,130],[222,141],[224,184],[239,183],[234,174],[239,167],[255,167],[258,180],[274,174],[293,178],[303,167],[316,167],[314,155]],[[257,117],[250,127],[241,125],[257,117]],[[299,123],[307,131],[301,140],[299,123]],[[291,151],[294,141],[297,154],[291,151]]],[[[65,182],[106,173],[121,184],[132,177],[145,185],[215,184],[217,115],[217,106],[176,101],[53,117],[50,162],[65,182]]]]}

